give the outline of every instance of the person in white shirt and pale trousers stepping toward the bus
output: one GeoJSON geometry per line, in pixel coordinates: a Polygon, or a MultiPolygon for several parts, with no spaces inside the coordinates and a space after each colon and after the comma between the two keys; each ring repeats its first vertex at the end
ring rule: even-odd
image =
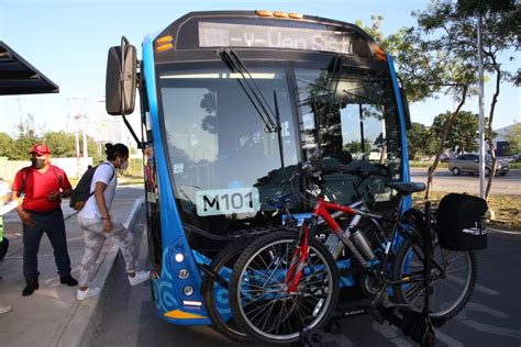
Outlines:
{"type": "Polygon", "coordinates": [[[126,169],[129,148],[123,144],[107,144],[107,160],[95,171],[90,191],[84,209],[78,213],[78,223],[84,231],[85,254],[80,265],[79,287],[76,299],[85,300],[100,292],[100,288],[90,288],[95,276],[95,265],[106,238],[117,244],[125,261],[125,269],[131,286],[149,279],[149,272],[137,271],[137,255],[134,248],[134,236],[121,221],[109,213],[118,186],[117,168],[126,169]]]}

